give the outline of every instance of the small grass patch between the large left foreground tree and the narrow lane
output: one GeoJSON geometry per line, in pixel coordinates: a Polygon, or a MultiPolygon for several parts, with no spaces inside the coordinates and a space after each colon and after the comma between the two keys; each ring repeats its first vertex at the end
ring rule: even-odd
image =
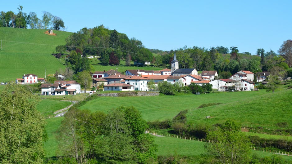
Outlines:
{"type": "Polygon", "coordinates": [[[45,118],[48,118],[54,117],[54,112],[59,109],[63,109],[70,104],[71,102],[68,101],[45,99],[39,102],[39,104],[37,105],[37,109],[45,118]]]}

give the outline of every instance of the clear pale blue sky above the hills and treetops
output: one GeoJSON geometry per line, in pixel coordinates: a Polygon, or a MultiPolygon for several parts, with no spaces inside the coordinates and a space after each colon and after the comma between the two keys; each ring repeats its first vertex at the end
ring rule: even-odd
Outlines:
{"type": "Polygon", "coordinates": [[[146,48],[238,47],[255,54],[258,48],[277,52],[292,39],[292,1],[25,1],[1,3],[0,11],[27,14],[42,11],[61,17],[65,31],[77,32],[103,24],[135,37],[146,48]]]}

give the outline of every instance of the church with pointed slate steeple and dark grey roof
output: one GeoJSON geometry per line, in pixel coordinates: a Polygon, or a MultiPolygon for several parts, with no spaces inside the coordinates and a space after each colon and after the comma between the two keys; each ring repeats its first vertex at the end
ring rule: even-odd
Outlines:
{"type": "Polygon", "coordinates": [[[174,51],[174,57],[171,61],[171,75],[172,76],[186,76],[186,75],[198,75],[198,71],[194,68],[178,68],[178,60],[176,60],[176,51],[174,51]]]}

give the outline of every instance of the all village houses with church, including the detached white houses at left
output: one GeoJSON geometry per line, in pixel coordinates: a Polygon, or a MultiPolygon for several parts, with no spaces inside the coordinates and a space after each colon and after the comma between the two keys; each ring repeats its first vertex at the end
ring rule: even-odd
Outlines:
{"type": "MultiPolygon", "coordinates": [[[[179,69],[176,53],[174,60],[171,61],[171,69],[153,70],[126,70],[120,73],[116,70],[96,71],[92,73],[93,86],[103,86],[105,91],[149,91],[148,82],[167,81],[171,84],[180,82],[184,86],[191,83],[202,86],[203,84],[212,84],[212,89],[218,91],[227,91],[231,86],[238,91],[252,91],[254,89],[254,73],[241,70],[228,79],[218,79],[217,71],[203,71],[198,75],[196,69],[179,69]]],[[[266,80],[268,72],[257,73],[257,81],[266,80]]],[[[54,84],[45,84],[44,78],[38,78],[34,74],[23,75],[17,78],[17,84],[31,84],[42,82],[42,95],[76,95],[79,94],[80,84],[76,81],[55,81],[54,84]]]]}

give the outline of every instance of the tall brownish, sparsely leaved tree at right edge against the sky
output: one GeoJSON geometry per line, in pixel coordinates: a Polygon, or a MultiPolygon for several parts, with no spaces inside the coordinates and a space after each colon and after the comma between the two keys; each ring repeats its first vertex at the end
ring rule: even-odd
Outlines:
{"type": "Polygon", "coordinates": [[[286,40],[278,50],[279,54],[284,57],[289,67],[292,66],[292,40],[286,40]]]}

